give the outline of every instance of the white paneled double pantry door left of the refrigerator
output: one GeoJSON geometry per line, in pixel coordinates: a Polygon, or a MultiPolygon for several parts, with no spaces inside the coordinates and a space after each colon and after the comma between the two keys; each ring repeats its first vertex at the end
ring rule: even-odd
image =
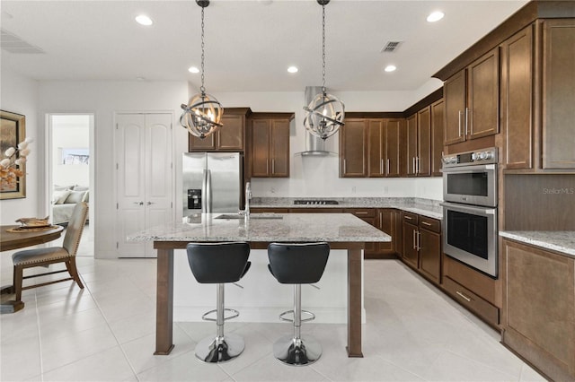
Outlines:
{"type": "Polygon", "coordinates": [[[128,235],[173,222],[171,114],[116,115],[116,247],[119,257],[155,257],[128,235]]]}

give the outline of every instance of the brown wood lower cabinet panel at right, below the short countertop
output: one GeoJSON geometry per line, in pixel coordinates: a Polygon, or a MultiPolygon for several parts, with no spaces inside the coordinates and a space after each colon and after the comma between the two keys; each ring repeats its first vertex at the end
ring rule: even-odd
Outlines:
{"type": "Polygon", "coordinates": [[[575,258],[502,243],[502,342],[548,378],[575,380],[575,258]]]}

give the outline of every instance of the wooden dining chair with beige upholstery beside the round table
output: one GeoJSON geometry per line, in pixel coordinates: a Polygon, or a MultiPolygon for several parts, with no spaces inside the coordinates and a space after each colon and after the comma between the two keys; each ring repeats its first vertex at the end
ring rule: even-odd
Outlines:
{"type": "Polygon", "coordinates": [[[82,281],[80,281],[80,275],[78,274],[78,270],[75,266],[75,254],[78,251],[78,246],[80,245],[80,239],[82,238],[82,231],[84,230],[84,224],[87,217],[88,204],[85,202],[78,203],[75,205],[74,213],[72,213],[72,218],[68,222],[62,247],[26,249],[13,254],[13,285],[16,294],[16,301],[22,300],[22,291],[24,290],[38,288],[40,286],[53,284],[55,282],[67,282],[69,280],[73,280],[81,289],[84,289],[84,285],[82,284],[82,281]],[[55,263],[65,263],[66,269],[23,276],[23,270],[25,268],[32,268],[36,266],[47,267],[48,265],[55,263]],[[70,277],[22,287],[22,281],[25,279],[62,272],[69,273],[70,277]]]}

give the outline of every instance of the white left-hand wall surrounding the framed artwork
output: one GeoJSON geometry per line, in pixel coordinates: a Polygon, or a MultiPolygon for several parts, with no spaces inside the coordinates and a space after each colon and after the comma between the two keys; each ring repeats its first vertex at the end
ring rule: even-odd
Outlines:
{"type": "Polygon", "coordinates": [[[26,163],[26,197],[0,201],[0,221],[2,224],[14,224],[18,218],[46,216],[40,208],[43,190],[39,192],[43,177],[40,163],[43,163],[44,151],[42,140],[38,139],[38,82],[14,73],[4,62],[1,66],[0,109],[26,116],[26,136],[34,138],[26,163]]]}

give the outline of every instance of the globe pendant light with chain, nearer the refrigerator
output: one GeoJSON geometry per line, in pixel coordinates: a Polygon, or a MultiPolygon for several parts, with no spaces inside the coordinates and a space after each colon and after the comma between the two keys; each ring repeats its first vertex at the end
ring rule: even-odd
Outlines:
{"type": "Polygon", "coordinates": [[[201,7],[201,87],[199,94],[190,98],[187,105],[181,104],[183,113],[180,123],[191,135],[203,139],[223,126],[220,120],[224,108],[213,96],[206,93],[204,87],[204,8],[209,5],[209,0],[196,0],[196,4],[201,7]]]}

